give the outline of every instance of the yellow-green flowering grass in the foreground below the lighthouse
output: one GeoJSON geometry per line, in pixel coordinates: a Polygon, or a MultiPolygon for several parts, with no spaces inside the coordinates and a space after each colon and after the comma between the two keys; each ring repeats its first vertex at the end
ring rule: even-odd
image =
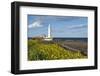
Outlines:
{"type": "Polygon", "coordinates": [[[28,40],[28,60],[58,60],[86,58],[80,51],[66,50],[56,43],[28,40]]]}

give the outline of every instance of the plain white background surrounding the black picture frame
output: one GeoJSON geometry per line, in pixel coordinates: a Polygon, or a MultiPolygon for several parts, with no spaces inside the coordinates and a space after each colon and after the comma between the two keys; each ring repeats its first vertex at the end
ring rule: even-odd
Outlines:
{"type": "MultiPolygon", "coordinates": [[[[13,74],[10,73],[10,57],[11,57],[10,54],[11,53],[11,48],[10,48],[11,5],[10,4],[13,1],[14,0],[1,0],[0,2],[0,76],[14,76],[13,74]]],[[[100,0],[20,0],[20,1],[98,6],[98,13],[100,13],[100,0]]],[[[100,20],[100,14],[98,14],[98,26],[100,24],[99,20],[100,20]]],[[[100,32],[100,26],[98,27],[98,29],[100,32]]],[[[99,37],[98,42],[100,42],[100,35],[98,37],[99,37]]],[[[98,54],[99,54],[98,58],[100,58],[100,51],[98,52],[98,54]]],[[[34,74],[34,76],[94,76],[94,75],[99,76],[100,59],[98,60],[99,60],[98,70],[40,73],[40,74],[34,74]]],[[[25,76],[33,76],[33,74],[26,74],[25,76]]]]}

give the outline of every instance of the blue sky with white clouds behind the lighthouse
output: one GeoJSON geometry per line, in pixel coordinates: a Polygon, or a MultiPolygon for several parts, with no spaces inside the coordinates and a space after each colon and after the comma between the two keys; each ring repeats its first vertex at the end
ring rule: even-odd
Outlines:
{"type": "Polygon", "coordinates": [[[49,24],[52,37],[87,37],[87,17],[50,15],[28,15],[28,37],[47,35],[49,24]]]}

